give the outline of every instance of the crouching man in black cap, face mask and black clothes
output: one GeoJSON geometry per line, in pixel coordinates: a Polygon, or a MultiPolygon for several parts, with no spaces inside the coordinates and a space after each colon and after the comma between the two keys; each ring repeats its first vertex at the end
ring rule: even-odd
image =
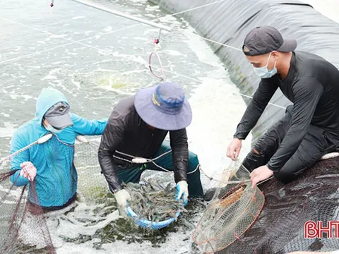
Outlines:
{"type": "Polygon", "coordinates": [[[242,140],[278,88],[293,103],[244,159],[253,186],[273,175],[279,181],[292,181],[339,147],[339,71],[320,56],[295,52],[296,47],[295,40],[283,40],[269,26],[254,28],[244,40],[243,52],[261,82],[227,156],[237,159],[242,140]]]}

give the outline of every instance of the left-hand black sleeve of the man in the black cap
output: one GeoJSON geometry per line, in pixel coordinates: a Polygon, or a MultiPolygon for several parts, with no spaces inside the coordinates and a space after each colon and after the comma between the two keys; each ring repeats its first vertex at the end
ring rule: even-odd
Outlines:
{"type": "Polygon", "coordinates": [[[268,83],[265,80],[261,80],[258,89],[254,93],[253,99],[251,99],[249,106],[242,116],[242,120],[237,126],[234,138],[244,140],[247,135],[249,135],[249,132],[256,126],[256,122],[261,114],[263,114],[268,102],[270,102],[270,99],[277,89],[278,85],[276,82],[268,83]]]}

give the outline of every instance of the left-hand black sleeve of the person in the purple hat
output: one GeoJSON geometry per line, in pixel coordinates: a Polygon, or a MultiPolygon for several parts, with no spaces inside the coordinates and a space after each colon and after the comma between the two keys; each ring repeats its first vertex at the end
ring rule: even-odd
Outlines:
{"type": "Polygon", "coordinates": [[[114,163],[113,153],[124,139],[124,121],[116,111],[113,111],[107,121],[105,131],[102,133],[98,151],[98,159],[110,191],[121,190],[118,181],[117,164],[114,163]]]}

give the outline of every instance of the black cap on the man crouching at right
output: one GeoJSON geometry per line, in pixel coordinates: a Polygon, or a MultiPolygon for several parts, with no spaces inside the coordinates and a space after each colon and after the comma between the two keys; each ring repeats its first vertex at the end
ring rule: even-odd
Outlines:
{"type": "Polygon", "coordinates": [[[278,30],[263,25],[252,29],[246,35],[242,51],[246,56],[257,56],[273,51],[292,52],[296,47],[296,40],[284,40],[278,30]]]}

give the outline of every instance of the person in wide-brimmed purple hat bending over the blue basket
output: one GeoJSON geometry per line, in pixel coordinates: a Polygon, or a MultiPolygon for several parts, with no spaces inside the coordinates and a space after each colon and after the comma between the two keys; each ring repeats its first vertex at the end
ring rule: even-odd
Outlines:
{"type": "Polygon", "coordinates": [[[145,169],[174,171],[177,200],[203,197],[198,157],[188,150],[192,112],[182,87],[164,82],[121,99],[102,134],[98,157],[120,207],[131,199],[121,182],[136,182],[145,169]],[[164,142],[169,133],[170,143],[164,142]]]}

